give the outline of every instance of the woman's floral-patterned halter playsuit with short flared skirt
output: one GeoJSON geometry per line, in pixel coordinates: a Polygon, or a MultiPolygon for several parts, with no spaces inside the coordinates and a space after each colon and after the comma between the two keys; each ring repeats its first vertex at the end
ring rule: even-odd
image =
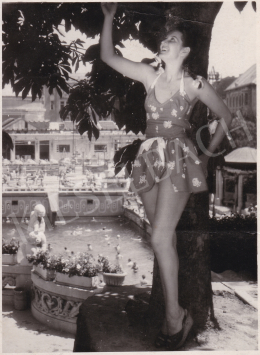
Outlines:
{"type": "MultiPolygon", "coordinates": [[[[167,101],[160,103],[155,96],[155,84],[159,76],[146,96],[147,139],[141,144],[134,161],[130,190],[141,194],[151,190],[155,183],[170,177],[175,192],[205,191],[207,183],[201,163],[193,143],[186,135],[197,99],[192,102],[189,100],[182,73],[180,89],[167,101]]],[[[201,81],[201,77],[197,77],[197,81],[201,81]]]]}

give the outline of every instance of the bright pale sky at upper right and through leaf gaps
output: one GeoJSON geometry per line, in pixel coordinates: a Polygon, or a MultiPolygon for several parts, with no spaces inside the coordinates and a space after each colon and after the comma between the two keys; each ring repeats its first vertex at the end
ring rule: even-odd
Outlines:
{"type": "MultiPolygon", "coordinates": [[[[256,24],[257,14],[252,8],[251,1],[246,4],[241,13],[233,1],[225,1],[212,30],[209,70],[214,66],[215,71],[219,72],[222,78],[237,77],[256,63],[256,24]]],[[[87,39],[80,31],[71,30],[64,34],[68,42],[77,38],[82,39],[85,41],[85,48],[98,41],[98,38],[87,39]]],[[[154,56],[137,41],[127,40],[124,44],[126,48],[120,50],[124,57],[130,60],[140,61],[154,56]]],[[[77,73],[86,73],[90,68],[89,65],[81,64],[77,73]]],[[[3,94],[10,95],[11,93],[11,88],[6,86],[3,94]]]]}

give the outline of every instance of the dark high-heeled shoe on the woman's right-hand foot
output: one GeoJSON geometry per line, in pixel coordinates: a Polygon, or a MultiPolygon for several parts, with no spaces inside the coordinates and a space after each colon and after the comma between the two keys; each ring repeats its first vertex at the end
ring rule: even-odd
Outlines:
{"type": "Polygon", "coordinates": [[[169,351],[177,350],[184,344],[193,325],[193,319],[187,309],[185,309],[184,312],[182,329],[178,333],[168,335],[167,337],[166,348],[169,351]]]}

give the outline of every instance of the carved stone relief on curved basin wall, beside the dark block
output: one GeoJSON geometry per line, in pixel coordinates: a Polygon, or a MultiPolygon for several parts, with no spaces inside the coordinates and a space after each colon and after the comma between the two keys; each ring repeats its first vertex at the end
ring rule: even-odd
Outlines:
{"type": "Polygon", "coordinates": [[[32,301],[34,306],[47,315],[54,315],[63,318],[76,318],[82,302],[66,300],[60,296],[47,293],[32,286],[32,301]]]}

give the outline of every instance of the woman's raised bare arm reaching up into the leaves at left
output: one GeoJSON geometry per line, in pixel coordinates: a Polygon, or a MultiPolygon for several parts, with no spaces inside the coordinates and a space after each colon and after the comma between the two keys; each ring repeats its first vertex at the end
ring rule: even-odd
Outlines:
{"type": "Polygon", "coordinates": [[[153,67],[144,63],[133,62],[115,53],[112,40],[112,25],[117,4],[102,2],[101,8],[105,17],[100,38],[101,59],[119,73],[141,81],[147,89],[151,84],[151,80],[153,80],[152,78],[154,78],[155,71],[153,67]]]}

